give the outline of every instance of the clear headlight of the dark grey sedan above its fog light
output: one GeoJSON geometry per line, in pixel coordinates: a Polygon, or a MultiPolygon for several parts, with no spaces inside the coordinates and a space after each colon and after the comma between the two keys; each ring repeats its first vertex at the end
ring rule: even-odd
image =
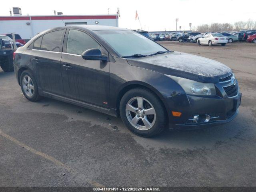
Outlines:
{"type": "Polygon", "coordinates": [[[213,83],[200,83],[197,81],[166,75],[176,81],[190,95],[216,95],[215,86],[213,83]]]}

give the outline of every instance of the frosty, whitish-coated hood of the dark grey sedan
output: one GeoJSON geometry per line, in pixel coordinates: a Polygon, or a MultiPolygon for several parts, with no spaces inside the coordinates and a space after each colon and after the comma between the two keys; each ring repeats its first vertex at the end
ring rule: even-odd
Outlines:
{"type": "Polygon", "coordinates": [[[128,63],[162,74],[179,76],[198,82],[219,82],[220,78],[232,73],[232,70],[215,60],[182,52],[170,52],[141,58],[129,58],[128,63]]]}

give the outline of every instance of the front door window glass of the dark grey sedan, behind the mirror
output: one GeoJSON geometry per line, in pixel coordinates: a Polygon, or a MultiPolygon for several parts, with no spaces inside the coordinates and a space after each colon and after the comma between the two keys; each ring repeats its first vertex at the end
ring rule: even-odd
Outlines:
{"type": "Polygon", "coordinates": [[[82,55],[84,51],[92,48],[100,49],[100,45],[88,34],[78,30],[69,30],[67,53],[82,55]]]}

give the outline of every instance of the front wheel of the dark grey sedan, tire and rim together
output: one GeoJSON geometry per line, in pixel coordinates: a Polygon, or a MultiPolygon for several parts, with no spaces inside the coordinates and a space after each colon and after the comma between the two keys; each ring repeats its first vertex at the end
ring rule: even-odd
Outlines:
{"type": "Polygon", "coordinates": [[[135,88],[126,92],[121,99],[119,109],[124,124],[138,136],[152,137],[160,134],[166,127],[167,116],[162,102],[153,92],[146,88],[135,88]],[[139,100],[142,101],[140,102],[142,105],[138,104],[139,100]],[[133,108],[127,107],[128,104],[133,108]],[[150,112],[152,114],[146,115],[144,110],[149,108],[151,108],[150,112]],[[133,124],[132,120],[134,120],[133,124]],[[146,126],[144,122],[149,122],[149,124],[147,123],[146,126]]]}

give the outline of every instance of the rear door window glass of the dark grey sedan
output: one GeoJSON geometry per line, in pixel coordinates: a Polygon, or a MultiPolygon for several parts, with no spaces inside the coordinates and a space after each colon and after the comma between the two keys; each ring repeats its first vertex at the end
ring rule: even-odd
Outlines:
{"type": "Polygon", "coordinates": [[[43,36],[41,50],[60,52],[64,30],[53,31],[43,36]]]}

